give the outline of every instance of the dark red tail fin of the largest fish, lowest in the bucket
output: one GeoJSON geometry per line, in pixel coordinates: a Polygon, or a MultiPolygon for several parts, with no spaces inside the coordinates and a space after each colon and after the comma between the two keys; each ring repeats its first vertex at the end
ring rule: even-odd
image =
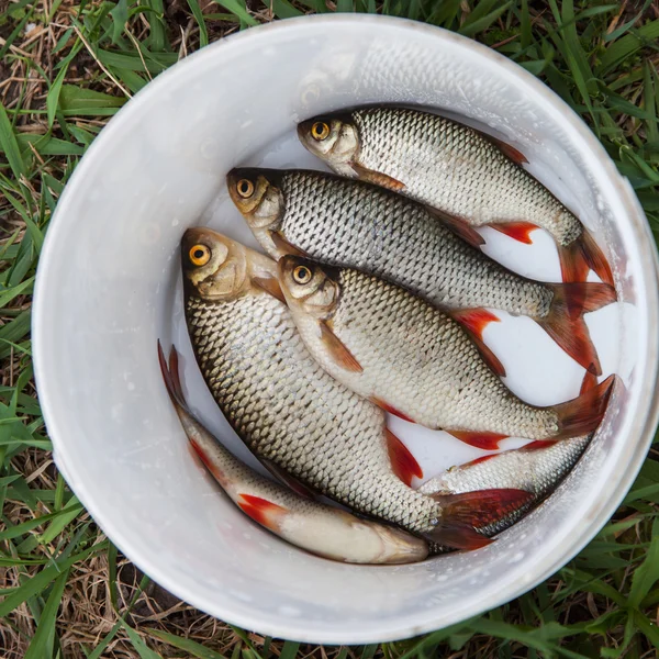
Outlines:
{"type": "Polygon", "coordinates": [[[478,490],[460,494],[434,494],[442,506],[438,527],[428,539],[456,549],[479,549],[493,540],[478,533],[483,527],[507,518],[525,506],[533,492],[513,488],[478,490]]]}

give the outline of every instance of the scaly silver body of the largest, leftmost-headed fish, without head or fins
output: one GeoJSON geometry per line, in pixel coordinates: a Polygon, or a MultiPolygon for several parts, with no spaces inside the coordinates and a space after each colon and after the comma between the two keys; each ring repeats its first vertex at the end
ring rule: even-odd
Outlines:
{"type": "Polygon", "coordinates": [[[435,528],[439,504],[391,470],[383,413],[311,358],[284,304],[266,293],[189,295],[186,316],[213,396],[255,454],[364,514],[435,528]]]}

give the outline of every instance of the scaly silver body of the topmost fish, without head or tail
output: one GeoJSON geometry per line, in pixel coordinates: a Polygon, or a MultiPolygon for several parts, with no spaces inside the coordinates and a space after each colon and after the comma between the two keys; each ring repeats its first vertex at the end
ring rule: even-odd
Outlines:
{"type": "Polygon", "coordinates": [[[411,197],[477,226],[524,220],[560,245],[581,235],[579,220],[480,132],[404,108],[350,116],[359,129],[360,165],[404,181],[411,197]],[[411,176],[417,170],[424,175],[411,176]]]}

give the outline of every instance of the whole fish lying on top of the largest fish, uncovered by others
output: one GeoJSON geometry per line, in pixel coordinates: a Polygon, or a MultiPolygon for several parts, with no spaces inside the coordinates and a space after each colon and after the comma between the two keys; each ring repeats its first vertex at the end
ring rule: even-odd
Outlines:
{"type": "Polygon", "coordinates": [[[529,405],[489,368],[456,321],[406,289],[294,255],[279,259],[278,275],[316,361],[392,414],[487,449],[509,436],[589,434],[602,420],[615,376],[566,403],[529,405]]]}

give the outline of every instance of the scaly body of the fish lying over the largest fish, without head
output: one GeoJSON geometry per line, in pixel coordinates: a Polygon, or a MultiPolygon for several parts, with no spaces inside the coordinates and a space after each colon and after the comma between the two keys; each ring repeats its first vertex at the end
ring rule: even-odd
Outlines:
{"type": "Polygon", "coordinates": [[[558,433],[557,413],[517,399],[453,319],[357,270],[339,270],[337,282],[340,293],[330,322],[364,369],[340,373],[348,387],[362,394],[390,391],[393,406],[432,428],[535,439],[558,433]]]}

